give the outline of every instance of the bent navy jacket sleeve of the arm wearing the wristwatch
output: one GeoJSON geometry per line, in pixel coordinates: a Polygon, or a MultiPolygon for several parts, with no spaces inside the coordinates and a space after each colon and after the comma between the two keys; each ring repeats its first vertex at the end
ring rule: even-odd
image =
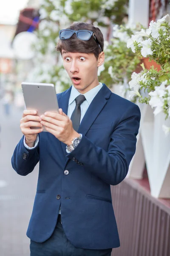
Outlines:
{"type": "Polygon", "coordinates": [[[117,185],[125,179],[130,161],[136,151],[136,136],[139,131],[140,110],[131,105],[119,120],[111,135],[108,151],[94,145],[82,135],[77,148],[66,156],[82,163],[87,171],[92,172],[108,184],[117,185]]]}

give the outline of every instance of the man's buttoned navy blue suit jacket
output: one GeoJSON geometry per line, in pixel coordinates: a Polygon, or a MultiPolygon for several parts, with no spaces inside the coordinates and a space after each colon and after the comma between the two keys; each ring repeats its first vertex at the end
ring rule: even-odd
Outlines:
{"type": "MultiPolygon", "coordinates": [[[[70,92],[71,88],[57,95],[59,108],[66,114],[70,92]]],[[[11,160],[14,170],[28,175],[40,161],[27,230],[30,239],[43,242],[51,236],[61,204],[63,229],[75,247],[120,246],[110,185],[119,184],[127,175],[139,122],[139,107],[103,84],[79,126],[82,140],[71,153],[48,132],[40,133],[39,144],[30,150],[22,137],[11,160]]]]}

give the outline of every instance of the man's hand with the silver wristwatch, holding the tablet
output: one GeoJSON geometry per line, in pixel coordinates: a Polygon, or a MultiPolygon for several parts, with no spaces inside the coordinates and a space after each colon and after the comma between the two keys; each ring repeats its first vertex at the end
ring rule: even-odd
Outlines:
{"type": "Polygon", "coordinates": [[[71,145],[71,141],[75,137],[79,137],[73,128],[71,119],[61,108],[59,108],[59,113],[45,112],[40,118],[42,119],[40,123],[45,126],[46,131],[66,145],[71,145]]]}

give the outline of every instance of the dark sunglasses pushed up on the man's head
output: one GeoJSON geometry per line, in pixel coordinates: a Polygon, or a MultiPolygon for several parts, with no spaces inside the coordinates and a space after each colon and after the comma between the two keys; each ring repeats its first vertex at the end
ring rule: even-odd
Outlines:
{"type": "Polygon", "coordinates": [[[62,29],[59,31],[59,39],[67,40],[72,37],[72,35],[76,34],[77,38],[83,41],[90,40],[91,37],[94,38],[96,44],[100,48],[102,52],[102,48],[100,47],[99,41],[97,40],[96,36],[94,35],[93,31],[90,30],[72,30],[72,29],[62,29]]]}

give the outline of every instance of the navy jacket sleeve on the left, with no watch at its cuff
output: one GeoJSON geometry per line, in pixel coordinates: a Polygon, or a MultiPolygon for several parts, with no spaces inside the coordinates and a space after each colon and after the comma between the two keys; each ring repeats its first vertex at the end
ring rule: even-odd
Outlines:
{"type": "Polygon", "coordinates": [[[23,141],[24,136],[14,150],[11,164],[19,175],[26,176],[34,170],[34,167],[39,162],[39,143],[33,149],[27,149],[23,141]]]}

